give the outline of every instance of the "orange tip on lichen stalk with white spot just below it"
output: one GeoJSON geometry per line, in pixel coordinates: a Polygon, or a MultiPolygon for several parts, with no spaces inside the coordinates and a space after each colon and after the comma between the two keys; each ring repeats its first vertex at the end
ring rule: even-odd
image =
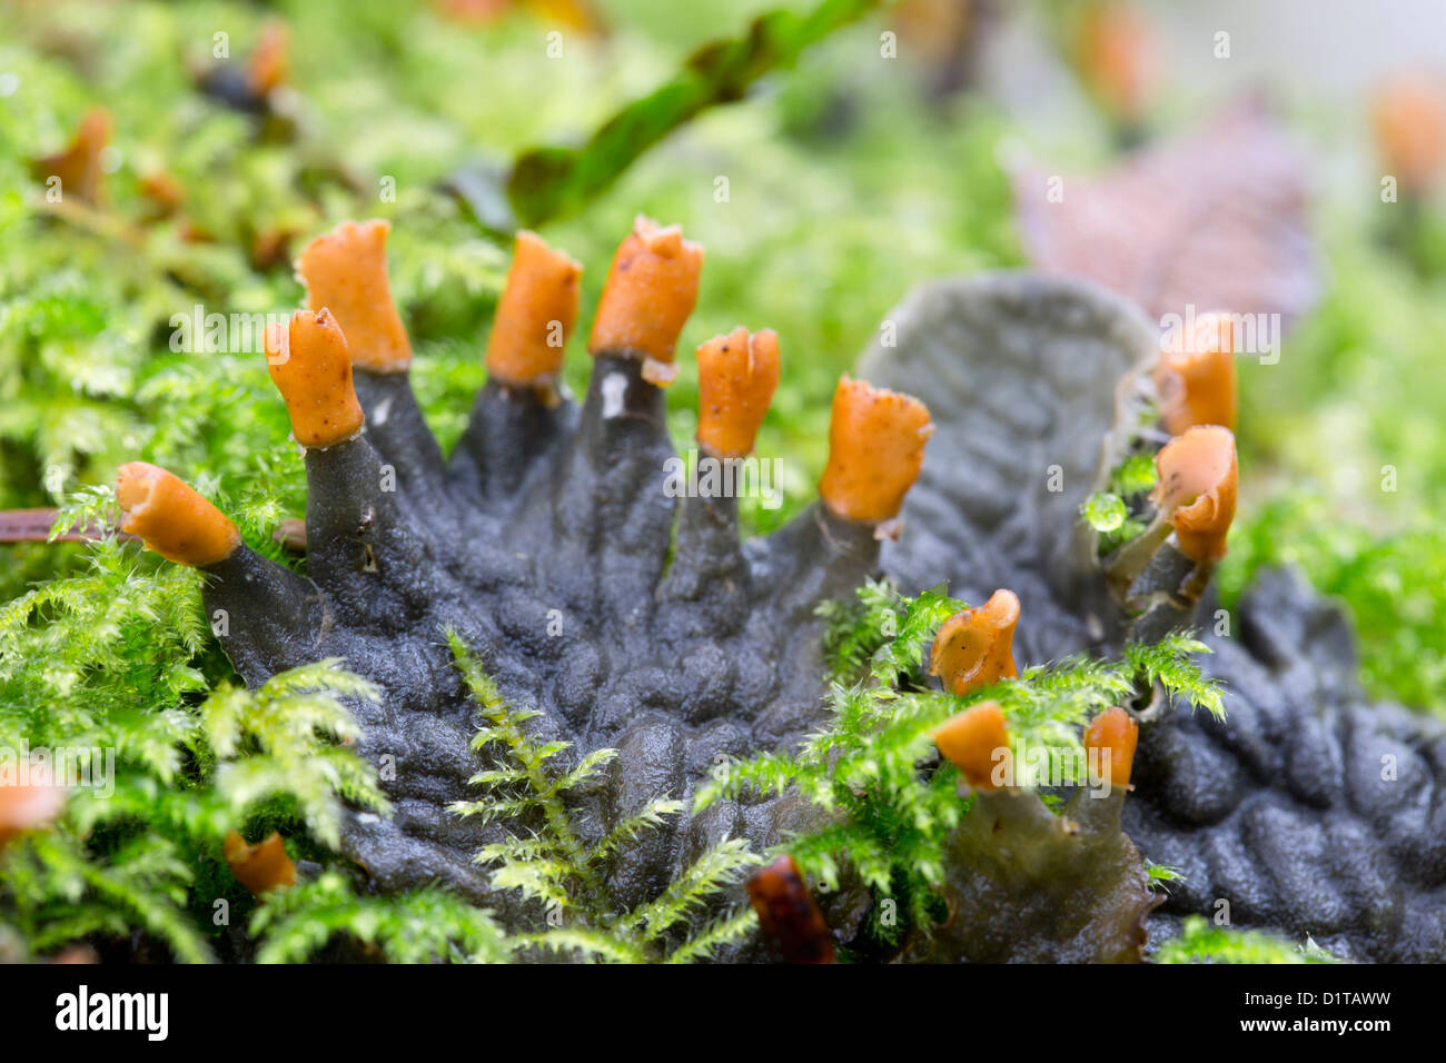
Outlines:
{"type": "Polygon", "coordinates": [[[664,229],[639,214],[613,256],[589,353],[636,354],[651,383],[671,383],[678,334],[698,301],[701,270],[703,244],[684,240],[678,226],[664,229]]]}

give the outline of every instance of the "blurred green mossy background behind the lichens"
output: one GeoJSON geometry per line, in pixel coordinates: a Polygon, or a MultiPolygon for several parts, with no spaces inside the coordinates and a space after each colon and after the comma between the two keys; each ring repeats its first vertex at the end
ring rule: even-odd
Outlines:
{"type": "MultiPolygon", "coordinates": [[[[643,211],[707,247],[684,349],[735,324],[778,330],[784,382],[758,448],[784,460],[788,505],[758,509],[752,526],[810,499],[833,385],[910,286],[1025,265],[1011,166],[1105,171],[1122,135],[1167,139],[1264,91],[1310,161],[1322,298],[1278,364],[1241,363],[1242,506],[1225,593],[1261,564],[1300,565],[1352,610],[1374,693],[1446,706],[1440,187],[1382,204],[1369,120],[1382,80],[1446,54],[1440,12],[1404,0],[1369,17],[1335,0],[1138,4],[1148,32],[1135,58],[1151,74],[1132,108],[1082,67],[1089,6],[1067,0],[12,0],[0,4],[0,509],[59,505],[143,457],[198,482],[275,552],[270,531],[304,505],[283,406],[260,359],[172,353],[168,321],[197,304],[296,305],[291,256],[346,217],[393,221],[414,379],[448,444],[483,380],[508,265],[493,175],[531,148],[584,142],[659,87],[671,95],[645,119],[707,95],[696,72],[709,68],[688,74],[687,56],[746,43],[749,20],[779,10],[801,17],[755,38],[768,46],[739,67],[749,84],[722,93],[742,100],[632,165],[593,158],[606,187],[538,226],[586,265],[583,323],[643,211]],[[872,10],[849,20],[853,9],[872,10]],[[847,25],[823,32],[834,16],[847,25]],[[200,91],[207,69],[241,71],[269,22],[289,33],[270,117],[200,91]],[[1222,26],[1225,62],[1210,51],[1222,26]],[[897,58],[881,54],[885,35],[897,58]],[[788,62],[784,45],[804,39],[788,62]],[[104,200],[49,210],[32,162],[62,150],[97,104],[114,123],[104,200]]],[[[687,445],[696,380],[680,360],[669,406],[687,445]]],[[[586,375],[574,340],[574,389],[586,375]]],[[[80,550],[0,547],[0,600],[71,571],[80,550]]]]}

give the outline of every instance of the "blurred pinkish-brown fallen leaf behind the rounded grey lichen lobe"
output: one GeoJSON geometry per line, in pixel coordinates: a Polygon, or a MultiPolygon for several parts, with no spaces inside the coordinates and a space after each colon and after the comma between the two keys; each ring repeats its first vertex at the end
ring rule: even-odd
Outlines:
{"type": "Polygon", "coordinates": [[[1155,317],[1193,305],[1290,320],[1319,296],[1306,165],[1255,100],[1096,178],[1066,179],[1058,202],[1040,169],[1014,185],[1040,269],[1095,281],[1155,317]]]}

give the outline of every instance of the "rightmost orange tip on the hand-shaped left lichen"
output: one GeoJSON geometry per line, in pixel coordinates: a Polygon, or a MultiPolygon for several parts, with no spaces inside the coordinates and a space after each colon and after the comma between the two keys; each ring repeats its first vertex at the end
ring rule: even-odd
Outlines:
{"type": "Polygon", "coordinates": [[[829,463],[818,482],[824,505],[850,521],[898,516],[933,434],[923,402],[844,375],[833,392],[829,463]]]}

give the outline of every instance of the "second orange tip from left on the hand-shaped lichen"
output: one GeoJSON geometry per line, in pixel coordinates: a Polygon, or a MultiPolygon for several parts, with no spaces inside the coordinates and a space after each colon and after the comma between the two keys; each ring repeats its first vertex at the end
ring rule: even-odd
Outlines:
{"type": "Polygon", "coordinates": [[[266,330],[266,369],[286,401],[302,447],[330,447],[362,431],[347,337],[325,308],[298,309],[285,330],[266,330]]]}

